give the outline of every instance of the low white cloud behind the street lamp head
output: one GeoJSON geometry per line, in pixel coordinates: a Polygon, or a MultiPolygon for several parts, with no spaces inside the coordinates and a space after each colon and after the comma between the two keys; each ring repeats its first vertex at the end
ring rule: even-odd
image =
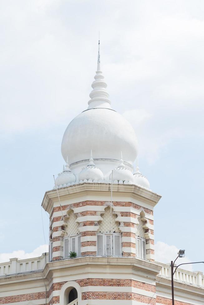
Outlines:
{"type": "MultiPolygon", "coordinates": [[[[157,242],[155,244],[155,260],[164,264],[170,264],[171,260],[175,260],[177,257],[179,249],[177,249],[176,246],[169,246],[165,242],[157,242]]],[[[188,257],[184,258],[178,258],[176,261],[176,265],[182,264],[182,263],[190,263],[191,260],[188,259],[188,257]]],[[[192,265],[183,265],[180,267],[184,270],[193,271],[192,265]]]]}

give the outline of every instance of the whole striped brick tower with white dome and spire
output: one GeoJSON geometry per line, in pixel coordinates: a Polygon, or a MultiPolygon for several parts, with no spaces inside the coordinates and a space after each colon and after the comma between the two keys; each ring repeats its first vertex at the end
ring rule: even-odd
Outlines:
{"type": "Polygon", "coordinates": [[[153,208],[161,196],[134,161],[134,129],[111,107],[100,67],[88,108],[64,133],[50,215],[49,304],[156,304],[153,208]]]}

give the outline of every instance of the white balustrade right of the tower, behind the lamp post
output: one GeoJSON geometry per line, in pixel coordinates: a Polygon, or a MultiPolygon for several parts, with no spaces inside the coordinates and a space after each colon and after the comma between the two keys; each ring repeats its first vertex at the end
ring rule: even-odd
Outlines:
{"type": "MultiPolygon", "coordinates": [[[[159,273],[159,276],[165,277],[165,278],[171,278],[171,265],[169,264],[162,264],[159,263],[159,265],[162,265],[161,271],[159,273]]],[[[178,282],[185,282],[190,285],[197,285],[197,286],[203,286],[204,287],[204,275],[202,272],[192,272],[188,270],[183,269],[177,269],[174,274],[174,280],[178,282]]]]}

